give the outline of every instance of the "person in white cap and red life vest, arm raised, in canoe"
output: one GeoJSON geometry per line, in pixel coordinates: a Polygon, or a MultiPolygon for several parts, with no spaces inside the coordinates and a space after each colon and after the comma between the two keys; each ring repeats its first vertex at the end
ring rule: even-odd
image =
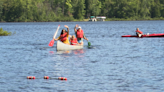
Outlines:
{"type": "Polygon", "coordinates": [[[88,39],[85,37],[84,32],[80,26],[76,25],[74,28],[74,31],[75,31],[79,45],[83,45],[83,38],[88,41],[88,39]],[[77,27],[78,29],[76,29],[77,27]]]}

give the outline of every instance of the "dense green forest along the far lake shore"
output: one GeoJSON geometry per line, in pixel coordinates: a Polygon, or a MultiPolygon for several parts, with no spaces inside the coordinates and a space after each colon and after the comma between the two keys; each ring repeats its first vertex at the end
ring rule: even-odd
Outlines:
{"type": "Polygon", "coordinates": [[[0,0],[1,22],[164,18],[164,0],[0,0]]]}

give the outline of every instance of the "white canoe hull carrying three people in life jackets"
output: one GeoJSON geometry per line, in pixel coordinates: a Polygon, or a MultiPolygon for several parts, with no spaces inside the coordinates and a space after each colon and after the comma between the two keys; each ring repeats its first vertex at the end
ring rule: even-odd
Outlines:
{"type": "Polygon", "coordinates": [[[61,50],[77,50],[77,49],[82,49],[83,46],[75,46],[75,45],[68,45],[68,44],[64,44],[61,41],[57,41],[57,51],[61,51],[61,50]]]}

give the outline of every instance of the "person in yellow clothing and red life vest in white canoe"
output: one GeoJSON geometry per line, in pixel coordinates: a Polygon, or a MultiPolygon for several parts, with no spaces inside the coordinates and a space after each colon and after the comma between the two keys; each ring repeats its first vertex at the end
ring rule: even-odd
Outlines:
{"type": "Polygon", "coordinates": [[[68,27],[67,25],[64,25],[64,27],[67,28],[67,31],[66,31],[65,29],[63,29],[63,30],[61,31],[60,36],[59,36],[57,39],[54,39],[54,40],[55,40],[55,41],[60,40],[60,41],[62,41],[63,43],[70,45],[70,43],[69,43],[69,36],[70,36],[70,35],[69,35],[69,27],[68,27]]]}

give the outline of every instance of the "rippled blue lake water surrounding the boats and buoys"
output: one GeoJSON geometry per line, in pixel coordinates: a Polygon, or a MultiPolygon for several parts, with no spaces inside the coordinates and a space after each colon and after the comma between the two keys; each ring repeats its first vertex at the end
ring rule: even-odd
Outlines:
{"type": "Polygon", "coordinates": [[[0,23],[1,92],[164,92],[164,37],[122,38],[164,33],[164,21],[0,23]],[[79,24],[92,48],[56,51],[48,44],[58,25],[79,24]],[[27,79],[35,76],[35,80],[27,79]],[[45,80],[44,76],[53,79],[45,80]],[[67,81],[55,78],[66,77],[67,81]]]}

